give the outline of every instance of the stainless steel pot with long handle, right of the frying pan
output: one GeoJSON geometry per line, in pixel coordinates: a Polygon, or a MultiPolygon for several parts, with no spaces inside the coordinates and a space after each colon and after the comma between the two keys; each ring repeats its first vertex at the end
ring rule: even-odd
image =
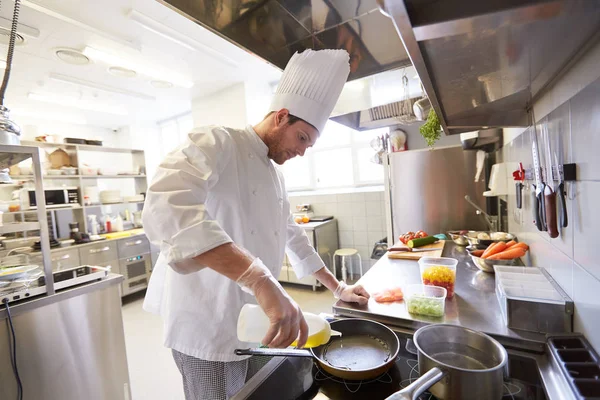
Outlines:
{"type": "Polygon", "coordinates": [[[502,398],[508,354],[496,340],[443,324],[420,328],[413,340],[421,377],[388,400],[415,400],[426,390],[443,400],[502,398]]]}

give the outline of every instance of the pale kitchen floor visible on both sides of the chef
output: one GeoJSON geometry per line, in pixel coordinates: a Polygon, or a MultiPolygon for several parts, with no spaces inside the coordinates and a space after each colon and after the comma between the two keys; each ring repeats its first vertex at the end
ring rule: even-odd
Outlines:
{"type": "MultiPolygon", "coordinates": [[[[303,311],[331,312],[334,303],[329,290],[285,285],[303,311]]],[[[144,292],[133,294],[123,303],[123,324],[129,361],[133,400],[184,400],[181,375],[162,344],[160,317],[142,310],[144,292]]]]}

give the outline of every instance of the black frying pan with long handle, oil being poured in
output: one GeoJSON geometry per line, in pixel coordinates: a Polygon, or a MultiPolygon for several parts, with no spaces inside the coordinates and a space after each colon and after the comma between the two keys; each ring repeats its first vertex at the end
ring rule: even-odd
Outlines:
{"type": "Polygon", "coordinates": [[[239,356],[312,357],[320,368],[341,379],[365,380],[387,372],[396,362],[400,342],[387,326],[366,319],[331,322],[342,333],[312,349],[237,349],[239,356]]]}

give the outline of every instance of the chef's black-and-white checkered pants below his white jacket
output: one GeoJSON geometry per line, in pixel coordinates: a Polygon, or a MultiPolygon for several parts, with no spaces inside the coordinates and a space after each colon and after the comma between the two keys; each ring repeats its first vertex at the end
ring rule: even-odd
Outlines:
{"type": "Polygon", "coordinates": [[[186,400],[229,399],[271,360],[271,357],[254,356],[242,361],[206,361],[171,351],[181,372],[186,400]]]}

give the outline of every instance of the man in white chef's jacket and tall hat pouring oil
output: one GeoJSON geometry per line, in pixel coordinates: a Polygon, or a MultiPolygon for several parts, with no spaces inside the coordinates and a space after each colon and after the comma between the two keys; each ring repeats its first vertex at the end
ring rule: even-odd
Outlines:
{"type": "Polygon", "coordinates": [[[229,398],[264,364],[234,354],[248,346],[236,335],[246,303],[269,317],[264,345],[306,342],[301,310],[276,279],[284,252],[299,278],[315,276],[344,301],[368,301],[361,286],[338,282],[293,221],[274,165],[315,144],[348,74],[345,50],[296,53],[262,122],[196,128],[158,167],[143,223],[160,257],[144,309],[163,318],[187,400],[229,398]]]}

